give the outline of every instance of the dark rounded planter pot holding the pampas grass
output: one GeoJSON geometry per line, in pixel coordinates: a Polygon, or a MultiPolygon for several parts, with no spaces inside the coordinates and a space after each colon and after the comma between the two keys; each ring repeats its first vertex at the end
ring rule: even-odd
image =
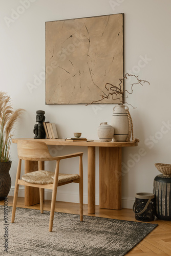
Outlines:
{"type": "Polygon", "coordinates": [[[4,200],[11,188],[11,177],[9,170],[11,168],[11,161],[7,163],[0,163],[0,201],[4,200]]]}

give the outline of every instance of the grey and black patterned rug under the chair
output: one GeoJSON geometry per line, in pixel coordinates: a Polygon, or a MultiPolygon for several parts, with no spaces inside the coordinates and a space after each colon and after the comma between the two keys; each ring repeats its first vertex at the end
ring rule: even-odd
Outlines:
{"type": "Polygon", "coordinates": [[[13,224],[11,211],[0,206],[0,255],[121,256],[158,225],[55,212],[49,232],[49,211],[16,208],[13,224]]]}

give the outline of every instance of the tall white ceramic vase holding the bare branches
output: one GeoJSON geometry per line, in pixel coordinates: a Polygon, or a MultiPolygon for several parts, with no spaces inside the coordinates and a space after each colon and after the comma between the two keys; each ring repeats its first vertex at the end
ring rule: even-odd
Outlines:
{"type": "Polygon", "coordinates": [[[111,124],[114,127],[114,141],[124,142],[129,134],[129,120],[126,110],[129,108],[125,105],[116,105],[113,108],[111,124]]]}

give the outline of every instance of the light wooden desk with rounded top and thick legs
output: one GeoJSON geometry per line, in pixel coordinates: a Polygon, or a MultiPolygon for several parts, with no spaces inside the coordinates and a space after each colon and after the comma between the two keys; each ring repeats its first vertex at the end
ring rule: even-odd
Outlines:
{"type": "MultiPolygon", "coordinates": [[[[32,138],[13,139],[13,143],[18,140],[35,140],[32,138]]],[[[137,146],[133,142],[101,142],[94,140],[91,142],[70,142],[64,139],[37,139],[47,145],[66,146],[87,146],[88,147],[88,213],[95,213],[95,148],[99,147],[99,198],[100,208],[121,209],[121,149],[122,147],[137,146]]],[[[36,162],[25,161],[25,173],[30,170],[37,170],[36,162]]],[[[84,170],[85,172],[85,170],[84,170]]],[[[25,188],[25,204],[27,206],[39,202],[39,193],[31,187],[25,188]]]]}

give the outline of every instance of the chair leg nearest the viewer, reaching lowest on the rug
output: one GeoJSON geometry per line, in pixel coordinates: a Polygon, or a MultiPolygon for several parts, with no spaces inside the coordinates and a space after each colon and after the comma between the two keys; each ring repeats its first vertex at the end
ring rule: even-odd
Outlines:
{"type": "Polygon", "coordinates": [[[58,185],[58,175],[59,175],[59,160],[57,160],[57,163],[56,163],[54,184],[53,184],[53,190],[52,190],[51,213],[50,213],[50,220],[49,220],[49,232],[52,232],[52,228],[53,228],[56,193],[57,193],[57,185],[58,185]]]}

